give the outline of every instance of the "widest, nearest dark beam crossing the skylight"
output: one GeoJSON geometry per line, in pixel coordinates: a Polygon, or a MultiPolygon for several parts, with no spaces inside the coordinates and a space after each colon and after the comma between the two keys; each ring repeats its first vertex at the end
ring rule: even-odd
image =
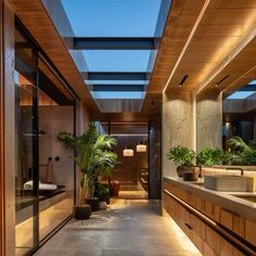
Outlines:
{"type": "Polygon", "coordinates": [[[74,37],[74,50],[156,50],[154,37],[74,37]]]}

